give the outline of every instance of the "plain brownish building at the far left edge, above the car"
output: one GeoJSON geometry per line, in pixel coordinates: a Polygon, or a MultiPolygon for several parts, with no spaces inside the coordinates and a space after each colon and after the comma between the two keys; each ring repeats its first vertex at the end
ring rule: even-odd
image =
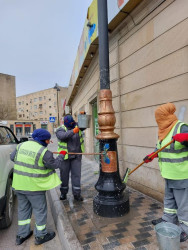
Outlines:
{"type": "Polygon", "coordinates": [[[16,119],[15,76],[0,74],[0,120],[16,119]]]}

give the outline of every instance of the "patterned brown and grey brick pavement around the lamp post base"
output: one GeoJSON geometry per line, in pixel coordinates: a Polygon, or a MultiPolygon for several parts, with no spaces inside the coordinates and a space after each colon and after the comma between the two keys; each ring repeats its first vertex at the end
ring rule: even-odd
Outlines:
{"type": "MultiPolygon", "coordinates": [[[[161,203],[127,187],[130,211],[118,218],[104,218],[93,212],[94,188],[98,175],[93,175],[87,161],[82,166],[82,195],[84,202],[76,203],[71,193],[62,204],[84,250],[158,250],[158,243],[151,220],[163,214],[161,203]]],[[[57,189],[59,193],[59,189],[57,189]]],[[[188,242],[181,243],[181,250],[188,250],[188,242]]]]}

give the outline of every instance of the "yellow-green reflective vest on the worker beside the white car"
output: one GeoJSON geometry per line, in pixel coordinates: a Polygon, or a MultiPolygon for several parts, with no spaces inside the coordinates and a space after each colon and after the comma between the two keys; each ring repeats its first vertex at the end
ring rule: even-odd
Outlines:
{"type": "Polygon", "coordinates": [[[44,167],[46,151],[46,147],[35,141],[17,146],[12,184],[15,190],[46,191],[61,184],[55,170],[44,167]]]}

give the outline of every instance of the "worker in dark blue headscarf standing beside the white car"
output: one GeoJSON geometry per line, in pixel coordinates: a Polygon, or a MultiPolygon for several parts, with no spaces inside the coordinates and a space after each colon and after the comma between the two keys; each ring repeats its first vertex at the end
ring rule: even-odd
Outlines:
{"type": "Polygon", "coordinates": [[[46,191],[61,184],[55,169],[62,164],[64,155],[56,159],[47,150],[51,134],[45,129],[36,129],[33,140],[18,144],[11,153],[14,161],[12,187],[18,198],[18,234],[16,245],[21,245],[33,231],[30,229],[32,212],[35,216],[35,244],[40,245],[55,237],[48,232],[46,191]]]}

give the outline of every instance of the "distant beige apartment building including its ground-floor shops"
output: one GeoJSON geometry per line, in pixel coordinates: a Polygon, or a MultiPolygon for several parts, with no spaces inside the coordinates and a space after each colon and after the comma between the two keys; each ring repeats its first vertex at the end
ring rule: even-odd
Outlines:
{"type": "Polygon", "coordinates": [[[29,124],[35,121],[39,121],[41,128],[52,132],[61,124],[66,95],[67,88],[58,86],[58,89],[50,88],[17,97],[17,120],[19,122],[17,132],[21,134],[32,132],[29,124]],[[25,123],[22,124],[21,121],[25,123]],[[23,128],[25,128],[24,131],[23,128]]]}

